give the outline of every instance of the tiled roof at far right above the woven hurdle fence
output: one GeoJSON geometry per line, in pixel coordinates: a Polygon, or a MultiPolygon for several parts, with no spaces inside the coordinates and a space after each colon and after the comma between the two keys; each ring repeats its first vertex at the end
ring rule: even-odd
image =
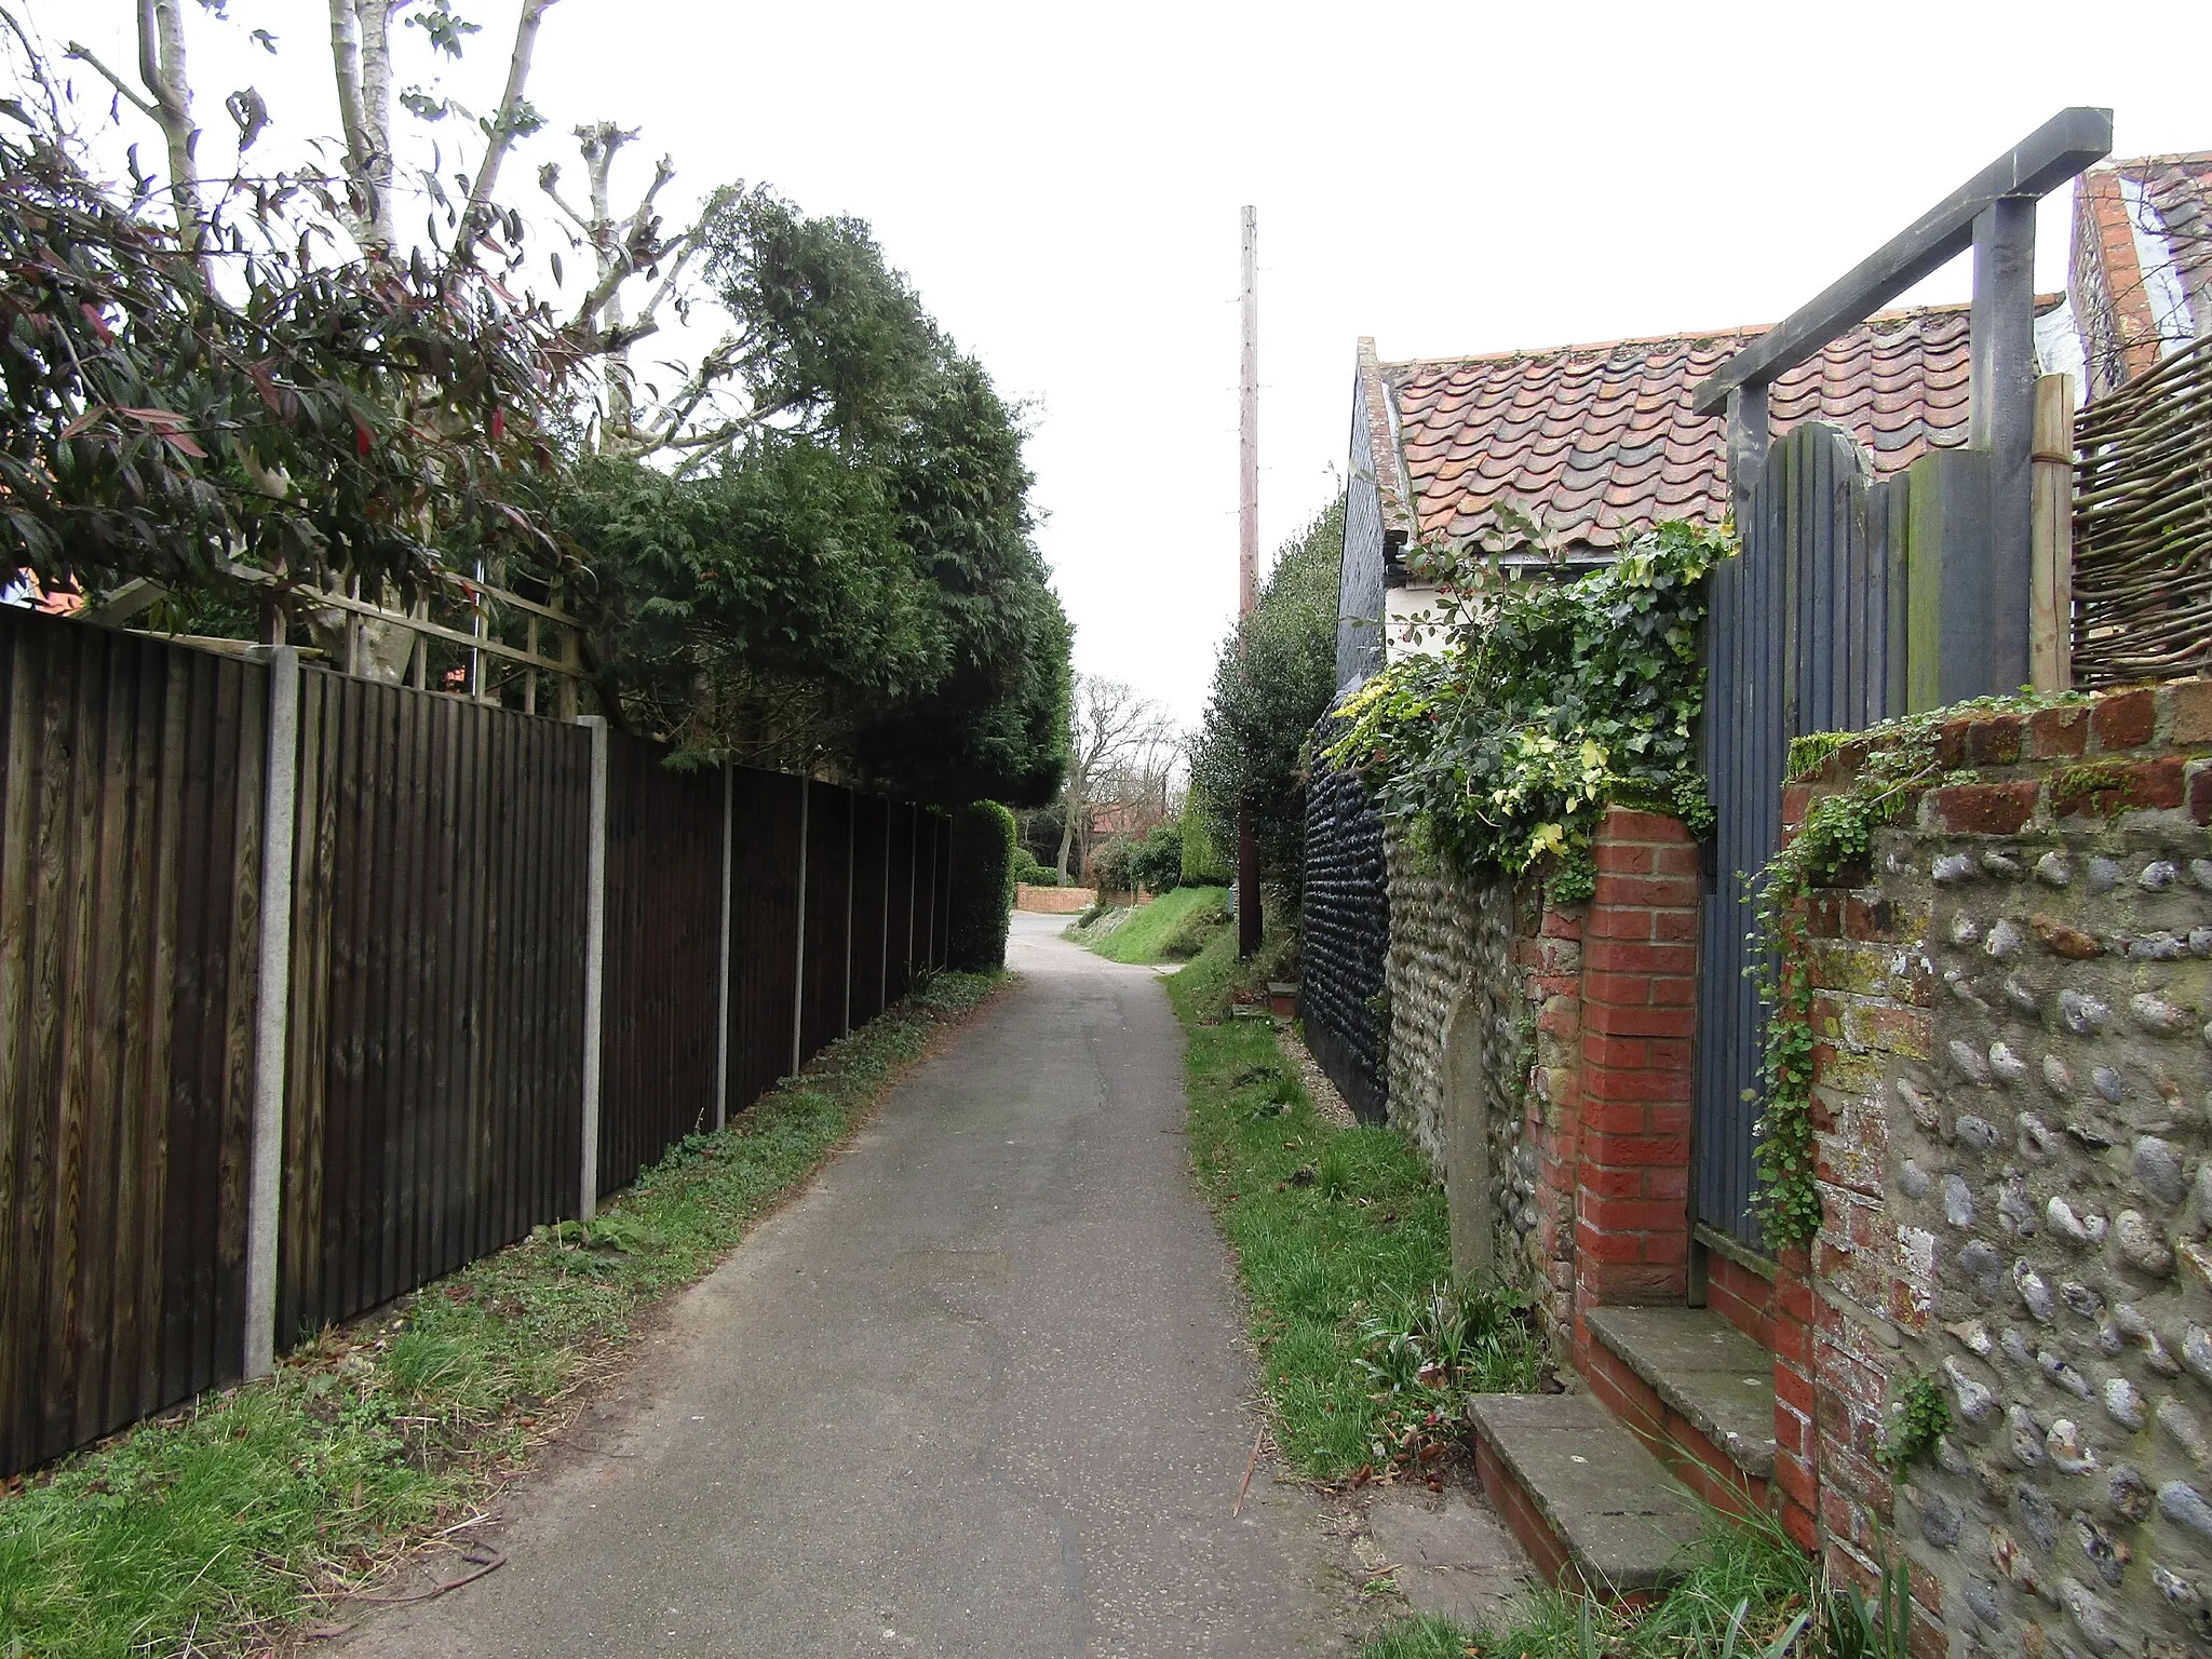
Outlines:
{"type": "Polygon", "coordinates": [[[2212,334],[2212,150],[2084,173],[2066,288],[2090,398],[2212,334]]]}

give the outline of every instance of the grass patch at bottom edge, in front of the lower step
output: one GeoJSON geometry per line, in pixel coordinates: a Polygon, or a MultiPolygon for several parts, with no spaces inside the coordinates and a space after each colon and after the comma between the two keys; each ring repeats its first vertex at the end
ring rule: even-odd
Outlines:
{"type": "MultiPolygon", "coordinates": [[[[1856,1628],[1849,1597],[1818,1586],[1812,1557],[1774,1520],[1714,1517],[1683,1555],[1674,1588],[1644,1610],[1537,1588],[1511,1619],[1491,1628],[1429,1615],[1398,1619],[1360,1650],[1360,1659],[1778,1659],[1781,1652],[1876,1659],[1887,1652],[1878,1641],[1849,1639],[1856,1628]],[[1825,1617],[1798,1626],[1814,1608],[1825,1617]],[[1739,1617],[1741,1628],[1730,1637],[1739,1617]]],[[[1896,1655],[1902,1659],[1902,1644],[1896,1655]]]]}

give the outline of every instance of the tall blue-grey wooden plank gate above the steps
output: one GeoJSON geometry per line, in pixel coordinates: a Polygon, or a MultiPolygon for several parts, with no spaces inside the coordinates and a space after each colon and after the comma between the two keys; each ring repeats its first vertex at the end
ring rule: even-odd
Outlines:
{"type": "Polygon", "coordinates": [[[1860,730],[1909,706],[1907,489],[1905,476],[1869,487],[1845,434],[1801,425],[1767,453],[1743,553],[1712,573],[1694,1203],[1701,1228],[1754,1250],[1761,1006],[1745,973],[1756,951],[1747,878],[1781,845],[1790,739],[1860,730]]]}

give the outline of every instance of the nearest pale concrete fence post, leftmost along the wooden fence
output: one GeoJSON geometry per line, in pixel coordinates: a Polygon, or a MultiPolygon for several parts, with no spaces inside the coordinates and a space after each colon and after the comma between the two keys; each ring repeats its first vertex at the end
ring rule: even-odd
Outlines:
{"type": "Polygon", "coordinates": [[[254,1128],[246,1172],[246,1380],[276,1369],[283,1079],[292,1015],[292,838],[299,823],[299,650],[261,646],[270,723],[261,796],[261,938],[254,973],[254,1128]]]}

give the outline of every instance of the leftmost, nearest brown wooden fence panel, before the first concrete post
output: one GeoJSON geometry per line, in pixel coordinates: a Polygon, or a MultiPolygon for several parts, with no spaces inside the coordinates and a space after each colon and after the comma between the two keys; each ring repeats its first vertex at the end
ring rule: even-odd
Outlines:
{"type": "Polygon", "coordinates": [[[265,714],[0,611],[0,1475],[243,1369],[265,714]]]}

